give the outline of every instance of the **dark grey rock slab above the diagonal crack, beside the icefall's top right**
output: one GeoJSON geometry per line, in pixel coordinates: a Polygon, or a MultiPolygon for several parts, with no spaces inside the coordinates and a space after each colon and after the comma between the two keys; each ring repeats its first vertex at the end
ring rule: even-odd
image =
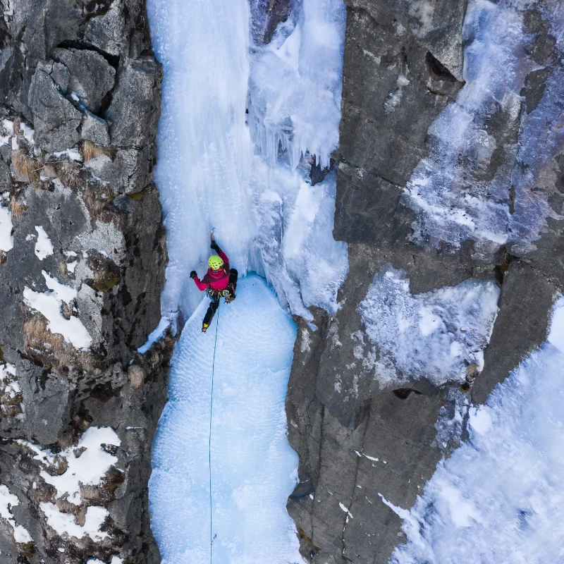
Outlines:
{"type": "MultiPolygon", "coordinates": [[[[442,16],[449,22],[458,18],[455,27],[461,28],[465,2],[454,4],[454,13],[444,10],[442,16]]],[[[349,6],[341,158],[403,186],[426,154],[429,125],[463,83],[439,71],[438,63],[446,68],[448,61],[440,61],[438,55],[427,56],[429,45],[409,31],[405,6],[376,0],[353,1],[349,6]]],[[[441,16],[438,11],[436,14],[441,16]]],[[[451,23],[445,23],[444,29],[450,30],[451,23]]],[[[438,21],[434,25],[441,27],[438,21]]]]}

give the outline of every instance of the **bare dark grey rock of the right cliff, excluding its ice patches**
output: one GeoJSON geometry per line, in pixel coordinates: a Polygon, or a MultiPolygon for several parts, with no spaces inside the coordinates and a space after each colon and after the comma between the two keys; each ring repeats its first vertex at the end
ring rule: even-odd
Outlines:
{"type": "MultiPolygon", "coordinates": [[[[534,245],[515,245],[519,239],[511,235],[487,252],[477,252],[472,237],[437,246],[416,244],[416,212],[404,189],[434,147],[431,124],[465,86],[462,46],[472,42],[462,32],[467,2],[345,1],[333,233],[348,243],[350,271],[335,317],[312,309],[317,331],[298,320],[286,410],[290,443],[300,455],[300,484],[288,511],[308,561],[385,564],[405,537],[400,518],[382,497],[410,509],[437,462],[464,439],[464,405],[483,402],[546,338],[551,306],[563,288],[558,258],[563,245],[563,142],[555,142],[559,149],[554,157],[534,173],[536,190],[560,214],[546,221],[534,245]],[[405,273],[412,295],[471,278],[494,281],[501,288],[483,369],[467,363],[465,379],[440,386],[392,370],[388,384],[382,384],[384,367],[377,361],[383,351],[371,348],[358,305],[386,265],[405,273]],[[462,425],[442,433],[445,425],[454,429],[455,417],[462,425]]],[[[559,72],[546,14],[516,13],[525,38],[520,56],[534,70],[525,75],[521,91],[508,95],[510,104],[493,105],[485,116],[483,127],[494,138],[495,150],[483,166],[472,168],[468,161],[467,177],[475,185],[519,165],[515,147],[523,142],[523,124],[546,99],[547,85],[559,72]]],[[[551,128],[546,121],[546,131],[551,128]]],[[[461,167],[465,158],[461,152],[461,167]]],[[[463,190],[459,182],[451,189],[463,190]]],[[[503,202],[511,214],[515,189],[508,184],[505,190],[503,202]]]]}

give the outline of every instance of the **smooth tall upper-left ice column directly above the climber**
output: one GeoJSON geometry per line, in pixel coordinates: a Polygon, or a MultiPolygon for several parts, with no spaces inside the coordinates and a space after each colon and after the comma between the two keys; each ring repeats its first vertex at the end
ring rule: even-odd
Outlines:
{"type": "Polygon", "coordinates": [[[164,68],[155,181],[161,192],[168,266],[163,312],[200,301],[188,275],[207,263],[209,231],[240,271],[255,235],[249,189],[247,0],[148,0],[164,68]]]}

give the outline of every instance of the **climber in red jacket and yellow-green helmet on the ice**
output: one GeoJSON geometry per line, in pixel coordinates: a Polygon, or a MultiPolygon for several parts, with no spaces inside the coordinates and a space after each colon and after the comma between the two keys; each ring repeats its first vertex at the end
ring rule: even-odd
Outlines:
{"type": "Polygon", "coordinates": [[[226,304],[235,300],[235,288],[237,288],[238,277],[238,272],[235,269],[229,268],[227,255],[219,248],[214,239],[212,239],[212,243],[209,246],[212,247],[217,255],[209,257],[209,269],[204,278],[200,280],[195,270],[190,272],[190,278],[194,279],[198,290],[202,292],[205,290],[207,295],[209,295],[209,299],[212,300],[204,316],[202,333],[205,333],[209,324],[212,323],[212,319],[214,319],[214,315],[219,307],[219,299],[221,297],[225,298],[226,304]]]}

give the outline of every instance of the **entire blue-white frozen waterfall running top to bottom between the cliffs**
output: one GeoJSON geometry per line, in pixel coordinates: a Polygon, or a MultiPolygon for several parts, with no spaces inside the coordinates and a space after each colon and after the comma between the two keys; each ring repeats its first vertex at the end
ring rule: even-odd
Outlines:
{"type": "Polygon", "coordinates": [[[207,425],[217,317],[202,335],[207,300],[188,276],[192,269],[202,274],[214,228],[240,275],[264,276],[278,301],[251,274],[240,277],[238,299],[221,307],[213,562],[300,563],[286,513],[298,465],[284,410],[296,335],[288,311],[308,320],[310,305],[335,312],[348,269],[346,245],[332,236],[335,171],[318,166],[320,181],[309,178],[313,157],[329,165],[338,145],[345,6],[298,3],[271,46],[250,44],[246,0],[148,0],[147,10],[164,67],[155,179],[169,262],[163,319],[143,350],[174,326],[178,310],[189,318],[154,443],[152,528],[165,563],[209,561],[207,425]],[[290,66],[281,64],[285,57],[290,66]],[[278,92],[282,70],[295,84],[278,92]],[[265,152],[257,132],[277,124],[284,142],[265,152]]]}

